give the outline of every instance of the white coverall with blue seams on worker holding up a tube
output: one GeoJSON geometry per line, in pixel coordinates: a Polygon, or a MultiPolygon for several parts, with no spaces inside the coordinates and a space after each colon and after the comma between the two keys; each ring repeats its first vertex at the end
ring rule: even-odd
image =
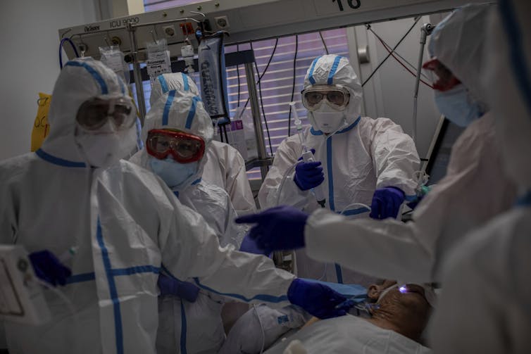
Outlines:
{"type": "MultiPolygon", "coordinates": [[[[352,203],[370,206],[377,188],[397,187],[406,196],[413,196],[416,188],[413,175],[420,162],[415,144],[392,120],[360,116],[361,84],[348,59],[334,55],[316,58],[306,73],[304,87],[311,86],[311,82],[340,84],[350,93],[344,128],[326,136],[316,131],[316,122],[311,112],[308,112],[313,127],[306,127],[302,133],[308,148],[316,149],[315,160],[323,164],[325,181],[321,187],[325,190],[327,208],[344,215],[368,216],[368,209],[352,206],[352,203]]],[[[287,177],[282,191],[279,191],[282,177],[289,167],[297,163],[302,152],[303,146],[297,135],[282,141],[258,193],[262,208],[288,204],[308,213],[320,208],[310,191],[301,191],[296,186],[293,173],[287,177]]],[[[308,258],[304,251],[296,251],[296,259],[299,277],[363,286],[375,282],[373,277],[342,270],[338,265],[326,267],[308,258]]]]}

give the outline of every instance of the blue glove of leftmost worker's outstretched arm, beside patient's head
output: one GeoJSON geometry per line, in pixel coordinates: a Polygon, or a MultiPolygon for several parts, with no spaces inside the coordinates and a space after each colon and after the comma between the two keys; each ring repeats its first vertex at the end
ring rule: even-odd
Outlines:
{"type": "Polygon", "coordinates": [[[347,301],[328,286],[306,282],[303,279],[295,279],[292,282],[287,291],[287,298],[290,303],[321,319],[346,315],[354,305],[354,301],[347,301]]]}

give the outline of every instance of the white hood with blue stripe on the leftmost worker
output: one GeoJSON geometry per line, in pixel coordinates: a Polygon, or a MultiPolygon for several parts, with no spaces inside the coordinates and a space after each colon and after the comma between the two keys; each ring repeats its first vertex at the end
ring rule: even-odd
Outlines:
{"type": "Polygon", "coordinates": [[[74,139],[75,116],[83,102],[104,94],[127,96],[127,87],[113,70],[92,58],[66,63],[54,86],[48,115],[50,134],[42,150],[56,158],[84,163],[74,139]]]}

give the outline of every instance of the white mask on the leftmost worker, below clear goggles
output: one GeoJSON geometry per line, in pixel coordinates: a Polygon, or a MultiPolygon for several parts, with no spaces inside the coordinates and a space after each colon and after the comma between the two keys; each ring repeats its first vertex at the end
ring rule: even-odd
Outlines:
{"type": "Polygon", "coordinates": [[[104,131],[94,133],[79,129],[75,136],[82,155],[92,167],[109,167],[120,158],[129,156],[137,146],[137,128],[134,125],[126,130],[104,131]]]}

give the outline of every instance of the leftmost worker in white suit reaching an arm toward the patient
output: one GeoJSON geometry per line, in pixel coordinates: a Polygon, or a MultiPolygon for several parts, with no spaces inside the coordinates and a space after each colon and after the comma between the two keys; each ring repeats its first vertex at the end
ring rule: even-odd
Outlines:
{"type": "Polygon", "coordinates": [[[294,279],[268,258],[220,248],[213,229],[161,179],[120,160],[136,144],[135,106],[99,61],[65,65],[49,121],[42,148],[0,163],[0,244],[32,252],[37,274],[66,284],[60,290],[75,313],[45,291],[52,320],[6,323],[9,353],[156,353],[162,266],[236,299],[291,302],[320,317],[344,313],[336,309],[344,297],[329,288],[294,279]],[[75,250],[60,257],[73,275],[65,279],[64,265],[43,250],[75,250]],[[252,270],[242,272],[243,263],[252,270]]]}

